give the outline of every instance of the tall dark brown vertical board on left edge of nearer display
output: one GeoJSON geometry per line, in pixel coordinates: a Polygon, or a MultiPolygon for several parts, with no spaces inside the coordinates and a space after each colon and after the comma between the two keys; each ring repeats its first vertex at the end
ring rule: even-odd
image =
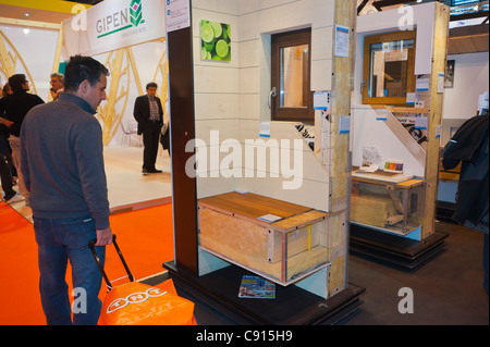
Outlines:
{"type": "Polygon", "coordinates": [[[170,32],[167,41],[175,264],[198,275],[197,183],[185,170],[194,156],[185,146],[195,138],[192,26],[170,32]]]}

